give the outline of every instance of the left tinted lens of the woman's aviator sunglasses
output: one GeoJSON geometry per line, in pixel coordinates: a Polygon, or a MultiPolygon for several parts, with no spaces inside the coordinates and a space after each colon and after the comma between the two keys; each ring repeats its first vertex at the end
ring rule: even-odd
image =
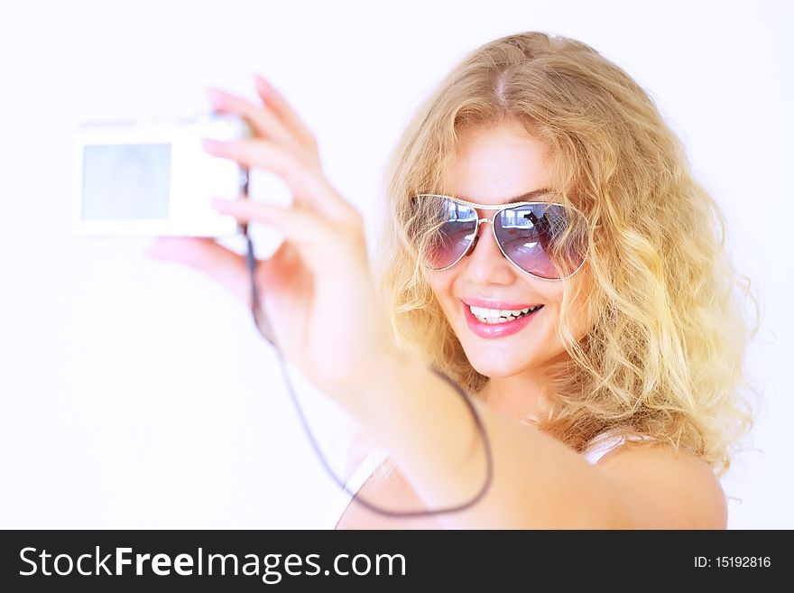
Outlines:
{"type": "Polygon", "coordinates": [[[429,268],[433,270],[454,264],[471,244],[477,227],[474,208],[445,199],[439,213],[425,255],[429,268]]]}

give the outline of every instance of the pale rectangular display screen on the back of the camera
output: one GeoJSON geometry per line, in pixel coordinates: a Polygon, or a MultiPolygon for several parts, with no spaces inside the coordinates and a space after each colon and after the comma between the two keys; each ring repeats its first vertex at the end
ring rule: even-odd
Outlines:
{"type": "Polygon", "coordinates": [[[168,218],[171,144],[86,146],[82,218],[168,218]]]}

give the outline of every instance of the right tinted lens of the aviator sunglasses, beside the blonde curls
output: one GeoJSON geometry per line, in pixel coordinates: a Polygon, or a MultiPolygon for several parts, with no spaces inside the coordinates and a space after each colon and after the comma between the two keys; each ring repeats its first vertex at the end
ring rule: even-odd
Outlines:
{"type": "Polygon", "coordinates": [[[494,219],[503,252],[522,270],[556,280],[576,272],[585,260],[586,220],[560,204],[525,204],[494,219]]]}

